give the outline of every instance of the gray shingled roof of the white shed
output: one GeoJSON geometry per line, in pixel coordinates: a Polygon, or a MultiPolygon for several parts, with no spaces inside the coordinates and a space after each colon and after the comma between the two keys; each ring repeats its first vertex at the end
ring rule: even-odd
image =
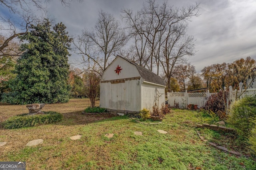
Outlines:
{"type": "Polygon", "coordinates": [[[151,72],[150,70],[144,68],[143,66],[140,66],[132,61],[129,61],[128,59],[125,59],[124,57],[121,57],[119,55],[117,57],[120,57],[120,58],[128,61],[129,63],[133,64],[134,66],[136,66],[136,68],[138,69],[143,80],[145,80],[147,82],[152,82],[152,83],[161,84],[163,86],[166,86],[166,83],[164,82],[164,80],[160,76],[156,75],[154,72],[151,72]]]}

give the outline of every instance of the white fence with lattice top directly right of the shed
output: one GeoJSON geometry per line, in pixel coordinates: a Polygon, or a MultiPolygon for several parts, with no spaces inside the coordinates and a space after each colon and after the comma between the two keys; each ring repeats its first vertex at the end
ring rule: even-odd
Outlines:
{"type": "Polygon", "coordinates": [[[186,90],[186,92],[168,92],[167,98],[168,104],[170,104],[170,106],[178,104],[179,108],[184,109],[187,108],[189,104],[194,104],[200,108],[204,106],[206,100],[212,94],[215,93],[210,93],[209,90],[207,93],[188,93],[186,90]]]}

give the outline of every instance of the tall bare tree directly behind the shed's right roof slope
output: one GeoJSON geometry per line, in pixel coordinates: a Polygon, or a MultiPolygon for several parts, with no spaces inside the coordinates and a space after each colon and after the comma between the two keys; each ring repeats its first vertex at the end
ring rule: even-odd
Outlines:
{"type": "Polygon", "coordinates": [[[156,62],[157,74],[159,74],[160,47],[163,43],[162,35],[166,30],[166,17],[168,16],[167,2],[162,6],[155,0],[148,0],[142,10],[133,15],[132,10],[122,10],[126,20],[129,35],[134,39],[139,63],[148,66],[152,71],[156,62]],[[147,53],[147,51],[149,53],[147,53]],[[149,63],[148,63],[149,62],[149,63]]]}

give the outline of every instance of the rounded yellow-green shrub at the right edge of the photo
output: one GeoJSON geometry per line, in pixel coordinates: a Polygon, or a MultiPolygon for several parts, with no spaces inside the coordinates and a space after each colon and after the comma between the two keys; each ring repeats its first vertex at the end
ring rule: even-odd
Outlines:
{"type": "Polygon", "coordinates": [[[247,97],[232,104],[227,121],[236,128],[238,135],[248,137],[255,126],[255,122],[252,121],[255,116],[256,96],[247,97]]]}

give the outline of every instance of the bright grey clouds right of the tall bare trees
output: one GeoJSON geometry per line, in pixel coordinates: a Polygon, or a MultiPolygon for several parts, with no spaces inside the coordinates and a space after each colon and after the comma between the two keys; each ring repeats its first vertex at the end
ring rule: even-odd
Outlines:
{"type": "Polygon", "coordinates": [[[197,39],[198,52],[190,61],[198,72],[211,64],[256,59],[255,1],[202,0],[200,13],[188,30],[197,39]]]}

